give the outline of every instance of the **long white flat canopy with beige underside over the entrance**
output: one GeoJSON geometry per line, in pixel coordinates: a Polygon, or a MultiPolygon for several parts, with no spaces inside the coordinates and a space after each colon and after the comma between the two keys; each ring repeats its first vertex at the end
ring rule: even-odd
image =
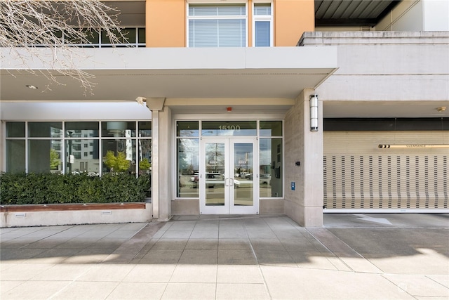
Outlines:
{"type": "MultiPolygon", "coordinates": [[[[5,48],[0,51],[8,61],[0,67],[2,101],[175,98],[178,100],[171,103],[181,108],[189,101],[192,105],[192,99],[231,99],[233,103],[248,98],[294,100],[303,89],[315,89],[337,70],[337,48],[333,46],[75,49],[80,51],[79,58],[84,58],[76,61],[76,66],[95,75],[93,94],[85,94],[79,82],[56,73],[62,84],[52,84],[51,90],[43,91],[48,84],[45,76],[25,72],[22,61],[11,56],[11,51],[5,48]],[[29,84],[39,89],[27,89],[25,86],[29,84]]],[[[41,51],[42,57],[52,57],[48,54],[57,50],[36,51],[41,51]]],[[[26,65],[37,71],[47,69],[39,60],[29,60],[26,65]]],[[[209,103],[214,105],[213,100],[209,103]]]]}

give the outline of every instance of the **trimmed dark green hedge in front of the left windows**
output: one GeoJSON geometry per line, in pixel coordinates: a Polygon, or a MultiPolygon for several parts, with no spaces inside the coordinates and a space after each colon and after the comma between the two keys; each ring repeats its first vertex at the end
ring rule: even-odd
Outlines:
{"type": "Polygon", "coordinates": [[[141,202],[148,175],[0,174],[1,204],[141,202]]]}

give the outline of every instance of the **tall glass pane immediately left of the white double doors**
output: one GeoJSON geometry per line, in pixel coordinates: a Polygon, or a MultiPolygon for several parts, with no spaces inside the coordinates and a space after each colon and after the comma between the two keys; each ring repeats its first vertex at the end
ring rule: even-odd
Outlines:
{"type": "Polygon", "coordinates": [[[180,138],[176,148],[177,197],[199,197],[199,139],[180,138]]]}

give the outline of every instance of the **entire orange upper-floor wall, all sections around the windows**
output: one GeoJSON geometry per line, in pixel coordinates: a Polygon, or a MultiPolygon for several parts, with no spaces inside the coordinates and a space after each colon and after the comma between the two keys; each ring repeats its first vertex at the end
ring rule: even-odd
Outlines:
{"type": "MultiPolygon", "coordinates": [[[[185,0],[146,0],[147,47],[185,47],[185,0]]],[[[213,3],[214,1],[211,1],[213,3]]],[[[252,0],[248,0],[248,46],[253,41],[252,0]]],[[[296,46],[314,31],[314,0],[274,0],[274,46],[296,46]]]]}

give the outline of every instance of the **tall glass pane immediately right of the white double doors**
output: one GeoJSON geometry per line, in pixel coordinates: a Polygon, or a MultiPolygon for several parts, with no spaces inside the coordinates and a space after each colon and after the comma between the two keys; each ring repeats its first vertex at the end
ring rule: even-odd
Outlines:
{"type": "Polygon", "coordinates": [[[260,197],[283,197],[282,138],[260,139],[260,197]]]}

